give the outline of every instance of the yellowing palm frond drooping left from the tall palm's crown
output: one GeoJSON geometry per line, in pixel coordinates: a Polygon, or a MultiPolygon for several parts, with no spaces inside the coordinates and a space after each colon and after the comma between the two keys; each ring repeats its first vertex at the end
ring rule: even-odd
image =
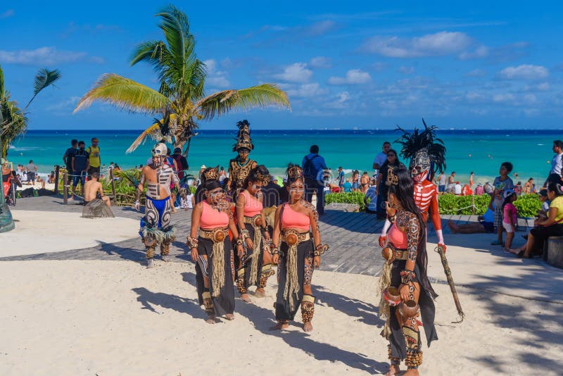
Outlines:
{"type": "Polygon", "coordinates": [[[87,108],[94,101],[141,113],[164,112],[170,103],[156,90],[113,73],[101,75],[94,87],[82,96],[73,113],[87,108]]]}

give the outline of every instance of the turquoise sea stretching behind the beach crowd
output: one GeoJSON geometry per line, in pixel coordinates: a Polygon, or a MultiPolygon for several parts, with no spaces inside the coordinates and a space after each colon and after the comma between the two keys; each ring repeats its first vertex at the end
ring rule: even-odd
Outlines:
{"type": "MultiPolygon", "coordinates": [[[[190,170],[196,173],[203,164],[222,165],[225,170],[232,151],[236,130],[198,130],[189,151],[190,170]]],[[[118,163],[122,168],[132,168],[146,163],[153,145],[152,140],[131,154],[125,150],[137,137],[136,130],[30,130],[20,137],[8,152],[14,164],[26,164],[32,159],[39,165],[39,173],[53,170],[62,164],[62,156],[70,146],[70,139],[84,140],[87,146],[91,137],[100,140],[102,164],[118,163]]],[[[333,171],[342,165],[344,170],[367,171],[372,175],[374,156],[381,151],[384,141],[393,142],[400,132],[393,130],[253,130],[251,137],[255,149],[251,158],[264,164],[275,175],[282,175],[287,163],[301,163],[312,144],[320,146],[320,154],[333,171]]],[[[438,130],[445,143],[447,173],[456,172],[457,180],[467,182],[474,171],[476,182],[493,180],[503,161],[514,164],[514,182],[524,182],[533,177],[538,182],[548,175],[552,154],[552,141],[563,139],[563,132],[553,130],[438,130]],[[518,177],[514,178],[517,173],[518,177]]],[[[392,144],[393,148],[398,144],[392,144]]]]}

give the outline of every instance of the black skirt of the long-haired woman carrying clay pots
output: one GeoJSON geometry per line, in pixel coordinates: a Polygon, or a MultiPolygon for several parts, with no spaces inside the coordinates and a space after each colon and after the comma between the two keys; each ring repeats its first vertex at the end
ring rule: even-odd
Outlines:
{"type": "MultiPolygon", "coordinates": [[[[393,268],[391,269],[391,286],[399,287],[400,285],[400,272],[405,270],[406,260],[396,260],[393,262],[393,268]]],[[[438,339],[438,334],[436,334],[436,327],[434,326],[434,316],[436,315],[436,308],[434,307],[434,300],[431,295],[426,292],[424,286],[420,283],[419,275],[420,270],[418,265],[415,265],[415,274],[417,275],[417,280],[420,286],[420,294],[418,299],[418,304],[420,307],[420,315],[422,317],[422,325],[424,326],[424,333],[426,334],[427,346],[430,346],[431,341],[438,339]]],[[[403,331],[399,326],[397,320],[396,311],[398,307],[389,307],[391,314],[391,336],[389,337],[389,342],[391,344],[391,351],[393,356],[404,359],[407,356],[407,343],[405,341],[405,336],[403,331]]]]}

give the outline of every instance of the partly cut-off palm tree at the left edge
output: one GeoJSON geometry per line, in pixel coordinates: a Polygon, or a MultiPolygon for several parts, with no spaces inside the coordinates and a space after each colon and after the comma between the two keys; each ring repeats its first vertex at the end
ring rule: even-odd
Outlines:
{"type": "Polygon", "coordinates": [[[56,82],[61,77],[58,70],[39,69],[33,84],[33,96],[27,105],[20,110],[16,101],[10,100],[10,93],[4,88],[4,72],[0,66],[0,154],[6,158],[8,148],[15,137],[25,133],[27,129],[27,108],[39,92],[56,82]]]}

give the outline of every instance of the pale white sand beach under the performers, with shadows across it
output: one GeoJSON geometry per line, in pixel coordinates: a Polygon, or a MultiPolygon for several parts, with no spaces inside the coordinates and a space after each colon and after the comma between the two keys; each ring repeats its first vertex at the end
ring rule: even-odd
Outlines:
{"type": "MultiPolygon", "coordinates": [[[[13,215],[16,230],[0,234],[2,256],[13,248],[4,247],[7,239],[27,254],[29,237],[53,242],[58,247],[52,251],[60,251],[136,236],[136,221],[125,218],[115,218],[123,221],[117,224],[72,213],[13,215]],[[72,243],[64,225],[77,220],[96,228],[95,234],[76,234],[80,244],[72,243]],[[58,225],[41,227],[41,237],[26,232],[45,222],[58,225]]],[[[560,375],[563,272],[507,257],[487,246],[490,239],[481,234],[446,240],[453,244],[448,257],[466,318],[451,323],[457,312],[450,289],[434,283],[439,339],[430,349],[424,344],[421,374],[560,375]]],[[[429,275],[443,280],[436,253],[429,255],[429,275]]],[[[1,374],[370,375],[387,369],[377,277],[316,270],[315,331],[305,334],[296,322],[274,332],[274,277],[266,298],[237,299],[233,322],[208,325],[196,300],[193,263],[157,259],[148,270],[136,261],[116,260],[0,262],[1,374]]],[[[301,321],[300,313],[296,319],[301,321]]]]}

